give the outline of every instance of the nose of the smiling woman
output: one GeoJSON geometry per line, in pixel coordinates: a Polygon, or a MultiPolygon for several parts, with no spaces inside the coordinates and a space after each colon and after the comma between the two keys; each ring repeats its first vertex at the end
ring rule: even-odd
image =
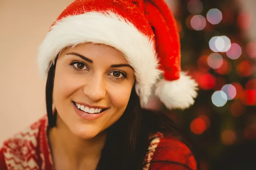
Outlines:
{"type": "Polygon", "coordinates": [[[106,96],[105,80],[101,75],[93,75],[87,79],[86,85],[83,87],[84,94],[93,102],[99,101],[106,96]]]}

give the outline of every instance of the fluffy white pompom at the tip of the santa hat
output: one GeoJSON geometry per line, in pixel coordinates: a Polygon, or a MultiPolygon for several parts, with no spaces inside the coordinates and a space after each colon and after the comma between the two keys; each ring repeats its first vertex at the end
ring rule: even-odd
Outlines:
{"type": "Polygon", "coordinates": [[[156,85],[155,94],[169,109],[185,109],[194,104],[197,96],[198,84],[190,76],[181,72],[180,79],[166,81],[164,79],[156,85]]]}

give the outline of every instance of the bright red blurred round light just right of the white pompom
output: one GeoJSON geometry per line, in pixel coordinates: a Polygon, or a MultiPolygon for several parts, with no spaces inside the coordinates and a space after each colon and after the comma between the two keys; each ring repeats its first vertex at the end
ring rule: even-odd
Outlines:
{"type": "Polygon", "coordinates": [[[215,84],[216,84],[216,79],[215,77],[213,77],[211,74],[209,73],[206,73],[206,74],[203,74],[199,81],[199,86],[204,89],[204,90],[209,90],[209,89],[212,89],[215,84]]]}

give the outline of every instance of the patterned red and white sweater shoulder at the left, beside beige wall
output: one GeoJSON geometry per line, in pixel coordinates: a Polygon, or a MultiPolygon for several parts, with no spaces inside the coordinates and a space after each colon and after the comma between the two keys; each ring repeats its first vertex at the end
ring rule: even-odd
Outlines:
{"type": "Polygon", "coordinates": [[[0,148],[0,167],[6,169],[37,169],[40,132],[47,125],[44,117],[3,142],[0,148]],[[4,165],[5,163],[5,165],[4,165]]]}

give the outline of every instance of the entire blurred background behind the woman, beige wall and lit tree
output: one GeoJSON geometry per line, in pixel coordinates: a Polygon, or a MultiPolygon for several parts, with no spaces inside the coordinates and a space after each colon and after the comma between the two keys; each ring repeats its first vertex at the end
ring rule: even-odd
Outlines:
{"type": "MultiPolygon", "coordinates": [[[[0,0],[0,143],[46,113],[38,46],[73,0],[0,0]]],[[[202,170],[256,169],[256,0],[166,0],[195,105],[161,108],[189,138],[202,170]]]]}

